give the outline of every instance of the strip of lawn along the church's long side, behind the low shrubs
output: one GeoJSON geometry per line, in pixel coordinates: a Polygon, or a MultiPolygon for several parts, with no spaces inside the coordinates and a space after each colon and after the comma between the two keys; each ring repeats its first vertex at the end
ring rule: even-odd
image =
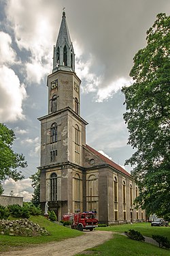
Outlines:
{"type": "Polygon", "coordinates": [[[135,229],[139,231],[143,236],[152,238],[152,235],[158,234],[160,236],[166,236],[170,240],[170,227],[151,227],[150,223],[134,223],[124,225],[114,225],[111,227],[99,227],[99,230],[108,230],[118,233],[124,233],[129,229],[135,229]]]}

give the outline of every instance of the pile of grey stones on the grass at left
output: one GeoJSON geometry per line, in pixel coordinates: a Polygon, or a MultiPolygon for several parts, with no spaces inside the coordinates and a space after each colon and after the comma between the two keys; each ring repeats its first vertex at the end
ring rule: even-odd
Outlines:
{"type": "Polygon", "coordinates": [[[50,233],[38,224],[22,218],[16,221],[0,220],[0,234],[10,236],[48,236],[50,233]]]}

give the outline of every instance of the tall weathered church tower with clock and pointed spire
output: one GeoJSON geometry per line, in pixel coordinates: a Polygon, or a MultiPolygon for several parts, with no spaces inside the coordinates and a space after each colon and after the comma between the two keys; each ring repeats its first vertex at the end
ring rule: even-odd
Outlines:
{"type": "Polygon", "coordinates": [[[80,79],[75,74],[75,54],[63,12],[52,74],[48,76],[48,115],[40,117],[40,201],[48,201],[58,219],[65,212],[82,210],[83,145],[86,124],[80,117],[80,79]],[[79,181],[79,182],[78,182],[79,181]],[[76,185],[79,184],[79,185],[76,185]],[[74,188],[81,186],[79,195],[74,188]]]}

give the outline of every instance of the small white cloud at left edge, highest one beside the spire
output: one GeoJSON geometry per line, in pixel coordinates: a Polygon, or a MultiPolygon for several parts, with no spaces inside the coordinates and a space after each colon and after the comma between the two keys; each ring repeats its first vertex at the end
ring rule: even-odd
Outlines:
{"type": "Polygon", "coordinates": [[[16,52],[12,48],[12,39],[9,34],[0,31],[0,64],[16,62],[16,52]]]}

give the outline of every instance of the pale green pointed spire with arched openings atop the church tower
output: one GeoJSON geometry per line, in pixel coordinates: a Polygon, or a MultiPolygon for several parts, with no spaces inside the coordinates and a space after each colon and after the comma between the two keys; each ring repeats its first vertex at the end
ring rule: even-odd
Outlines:
{"type": "Polygon", "coordinates": [[[67,70],[74,72],[75,67],[75,55],[73,51],[73,44],[69,35],[69,29],[67,27],[65,12],[61,20],[61,27],[56,40],[56,46],[54,46],[53,54],[53,70],[67,70]]]}

